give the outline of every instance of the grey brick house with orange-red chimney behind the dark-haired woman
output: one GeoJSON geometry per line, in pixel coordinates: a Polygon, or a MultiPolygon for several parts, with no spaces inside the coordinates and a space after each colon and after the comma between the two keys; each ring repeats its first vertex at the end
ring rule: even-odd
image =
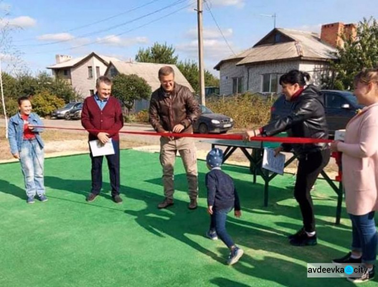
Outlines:
{"type": "Polygon", "coordinates": [[[329,74],[329,61],[335,60],[336,47],[343,45],[340,35],[355,37],[356,25],[333,23],[322,26],[321,35],[313,32],[275,28],[253,47],[221,60],[214,69],[220,72],[220,94],[245,91],[278,93],[280,76],[290,70],[306,71],[319,85],[329,74]]]}

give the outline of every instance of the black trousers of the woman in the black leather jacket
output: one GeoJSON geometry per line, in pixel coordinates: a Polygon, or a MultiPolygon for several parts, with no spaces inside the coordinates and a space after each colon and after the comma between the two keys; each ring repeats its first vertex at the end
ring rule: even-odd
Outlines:
{"type": "Polygon", "coordinates": [[[315,231],[315,217],[311,199],[311,188],[322,169],[330,161],[329,149],[308,153],[298,158],[298,171],[294,188],[294,197],[302,212],[303,226],[306,232],[315,231]]]}

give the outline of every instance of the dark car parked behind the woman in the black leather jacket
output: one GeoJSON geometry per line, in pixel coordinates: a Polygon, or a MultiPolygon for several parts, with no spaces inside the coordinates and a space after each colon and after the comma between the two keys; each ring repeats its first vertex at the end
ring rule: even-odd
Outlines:
{"type": "MultiPolygon", "coordinates": [[[[355,116],[358,109],[363,105],[357,103],[353,93],[339,90],[321,90],[324,96],[326,120],[330,136],[337,130],[344,130],[349,120],[355,116]]],[[[281,95],[271,107],[271,121],[275,121],[290,113],[292,103],[285,100],[281,95]]]]}

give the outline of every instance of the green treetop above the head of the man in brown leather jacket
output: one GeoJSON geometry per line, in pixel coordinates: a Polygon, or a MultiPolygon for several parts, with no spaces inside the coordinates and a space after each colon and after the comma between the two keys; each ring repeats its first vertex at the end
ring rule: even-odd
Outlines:
{"type": "Polygon", "coordinates": [[[178,56],[175,56],[174,52],[175,49],[172,45],[168,46],[167,43],[159,44],[156,42],[152,47],[146,49],[140,48],[135,56],[135,61],[175,65],[178,61],[178,56]]]}

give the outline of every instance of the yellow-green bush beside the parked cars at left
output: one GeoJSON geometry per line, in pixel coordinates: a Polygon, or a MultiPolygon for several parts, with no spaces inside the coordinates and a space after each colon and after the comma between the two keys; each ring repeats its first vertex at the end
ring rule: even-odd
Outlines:
{"type": "Polygon", "coordinates": [[[33,96],[31,102],[33,111],[41,117],[49,116],[52,111],[65,105],[63,99],[51,95],[47,91],[42,91],[33,96]]]}

